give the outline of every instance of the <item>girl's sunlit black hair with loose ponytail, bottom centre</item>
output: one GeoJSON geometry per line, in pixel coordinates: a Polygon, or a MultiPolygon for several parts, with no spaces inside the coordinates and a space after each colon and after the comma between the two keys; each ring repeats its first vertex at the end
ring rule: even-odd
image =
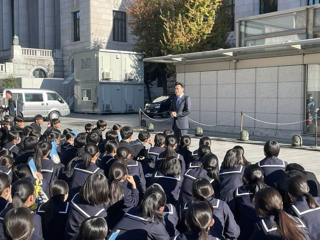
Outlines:
{"type": "Polygon", "coordinates": [[[164,214],[160,212],[160,208],[164,207],[166,201],[165,193],[161,189],[148,188],[141,203],[143,218],[148,222],[163,222],[164,214]]]}

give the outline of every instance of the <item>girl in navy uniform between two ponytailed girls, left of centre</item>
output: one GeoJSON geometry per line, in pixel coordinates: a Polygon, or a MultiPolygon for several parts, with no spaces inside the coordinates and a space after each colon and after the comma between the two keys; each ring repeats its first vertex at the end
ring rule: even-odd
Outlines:
{"type": "Polygon", "coordinates": [[[99,163],[99,167],[103,169],[104,175],[108,178],[109,169],[111,165],[116,161],[115,156],[117,154],[117,149],[119,144],[115,140],[108,140],[105,143],[105,153],[99,163]]]}

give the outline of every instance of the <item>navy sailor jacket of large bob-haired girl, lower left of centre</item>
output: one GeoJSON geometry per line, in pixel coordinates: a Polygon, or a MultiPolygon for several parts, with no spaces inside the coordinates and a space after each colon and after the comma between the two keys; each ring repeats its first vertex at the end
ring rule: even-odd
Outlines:
{"type": "Polygon", "coordinates": [[[79,232],[81,223],[90,217],[102,217],[107,220],[107,206],[92,206],[86,203],[77,193],[71,200],[71,209],[68,215],[65,239],[69,240],[79,232]]]}

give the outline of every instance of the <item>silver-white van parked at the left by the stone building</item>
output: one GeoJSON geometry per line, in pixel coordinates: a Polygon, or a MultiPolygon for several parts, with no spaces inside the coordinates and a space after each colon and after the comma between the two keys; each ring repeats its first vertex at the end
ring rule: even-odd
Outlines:
{"type": "MultiPolygon", "coordinates": [[[[12,94],[17,94],[18,101],[23,101],[23,117],[34,118],[41,114],[45,119],[59,118],[70,114],[69,105],[60,95],[53,90],[34,88],[0,88],[2,94],[1,105],[8,106],[5,98],[5,91],[10,90],[12,94]]],[[[1,97],[1,96],[0,96],[1,97]]]]}

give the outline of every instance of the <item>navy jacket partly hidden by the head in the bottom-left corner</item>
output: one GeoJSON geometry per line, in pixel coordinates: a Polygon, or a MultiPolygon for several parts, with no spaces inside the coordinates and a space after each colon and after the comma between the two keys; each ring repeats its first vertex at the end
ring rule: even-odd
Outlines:
{"type": "MultiPolygon", "coordinates": [[[[3,231],[3,219],[5,214],[10,210],[9,207],[5,208],[1,213],[0,213],[0,240],[5,240],[7,238],[4,237],[4,231],[3,231]]],[[[43,240],[42,236],[42,227],[41,227],[41,217],[36,214],[35,212],[31,211],[31,215],[33,216],[33,233],[30,237],[30,240],[43,240]]]]}

